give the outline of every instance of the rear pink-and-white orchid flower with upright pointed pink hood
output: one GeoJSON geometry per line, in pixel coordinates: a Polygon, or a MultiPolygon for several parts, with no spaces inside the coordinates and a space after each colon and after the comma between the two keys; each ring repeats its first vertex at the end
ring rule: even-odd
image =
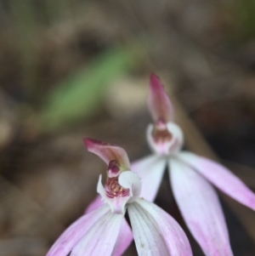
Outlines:
{"type": "Polygon", "coordinates": [[[143,179],[141,196],[154,201],[168,167],[173,196],[202,251],[207,256],[233,255],[224,213],[212,185],[253,210],[254,193],[217,162],[180,151],[183,132],[173,122],[173,106],[154,74],[150,77],[148,106],[154,123],[147,128],[147,139],[154,154],[132,164],[133,172],[143,179]]]}

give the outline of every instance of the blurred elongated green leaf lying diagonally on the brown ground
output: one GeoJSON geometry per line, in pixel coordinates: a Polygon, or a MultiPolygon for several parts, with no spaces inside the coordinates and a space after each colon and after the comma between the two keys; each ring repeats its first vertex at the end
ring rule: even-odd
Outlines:
{"type": "Polygon", "coordinates": [[[59,84],[48,95],[38,116],[42,130],[61,128],[93,115],[101,105],[107,85],[133,67],[138,55],[138,49],[134,47],[112,48],[59,84]]]}

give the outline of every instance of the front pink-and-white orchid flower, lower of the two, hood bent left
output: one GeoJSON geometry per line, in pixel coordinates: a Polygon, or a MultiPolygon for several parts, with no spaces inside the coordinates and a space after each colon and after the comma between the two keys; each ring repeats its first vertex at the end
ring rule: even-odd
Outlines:
{"type": "Polygon", "coordinates": [[[126,151],[94,139],[85,139],[85,144],[108,165],[105,187],[101,175],[97,186],[102,201],[65,230],[47,256],[120,255],[133,238],[139,255],[192,256],[178,223],[154,203],[139,198],[141,180],[130,171],[126,151]],[[132,231],[124,219],[126,211],[132,231]]]}

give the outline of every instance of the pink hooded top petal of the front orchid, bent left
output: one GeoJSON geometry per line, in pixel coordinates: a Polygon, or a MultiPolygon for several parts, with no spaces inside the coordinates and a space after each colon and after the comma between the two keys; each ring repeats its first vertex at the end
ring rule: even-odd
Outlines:
{"type": "Polygon", "coordinates": [[[130,169],[130,163],[126,151],[117,145],[111,145],[97,139],[84,139],[88,151],[98,155],[106,164],[116,160],[122,169],[130,169]]]}

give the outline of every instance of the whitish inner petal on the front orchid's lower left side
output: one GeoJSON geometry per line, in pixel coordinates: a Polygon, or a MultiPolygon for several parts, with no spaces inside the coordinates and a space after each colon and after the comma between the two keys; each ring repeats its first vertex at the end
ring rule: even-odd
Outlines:
{"type": "Polygon", "coordinates": [[[111,256],[123,218],[123,214],[106,213],[77,242],[71,256],[111,256]]]}

